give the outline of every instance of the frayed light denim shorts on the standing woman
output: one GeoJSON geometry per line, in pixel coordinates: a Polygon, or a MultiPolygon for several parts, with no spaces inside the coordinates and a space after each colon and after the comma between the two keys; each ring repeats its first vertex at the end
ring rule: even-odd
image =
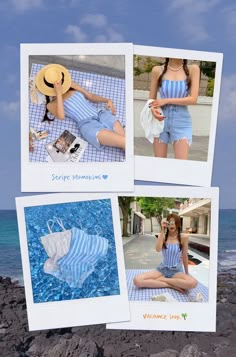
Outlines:
{"type": "Polygon", "coordinates": [[[165,119],[164,129],[159,141],[172,144],[174,141],[187,139],[192,144],[192,120],[185,105],[165,105],[162,107],[165,119]]]}

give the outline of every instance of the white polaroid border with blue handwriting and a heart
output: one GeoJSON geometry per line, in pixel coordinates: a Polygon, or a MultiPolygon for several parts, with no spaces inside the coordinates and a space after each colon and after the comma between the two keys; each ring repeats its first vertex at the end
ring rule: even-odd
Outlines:
{"type": "Polygon", "coordinates": [[[21,191],[112,192],[134,189],[133,45],[130,43],[21,44],[21,191]],[[124,162],[29,162],[29,56],[125,56],[126,155],[124,162]],[[120,180],[120,177],[124,177],[120,180]]]}

